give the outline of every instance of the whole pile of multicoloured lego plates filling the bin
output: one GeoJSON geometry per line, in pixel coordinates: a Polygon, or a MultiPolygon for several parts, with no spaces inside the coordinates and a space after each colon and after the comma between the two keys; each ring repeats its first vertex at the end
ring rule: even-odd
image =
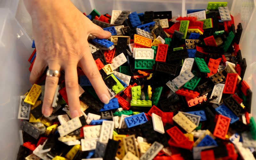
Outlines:
{"type": "MultiPolygon", "coordinates": [[[[103,104],[77,68],[84,115],[70,119],[63,73],[46,118],[44,74],[20,96],[17,159],[255,159],[242,25],[234,25],[227,3],[209,2],[187,17],[122,10],[84,15],[112,33],[88,38],[111,100],[103,104]]],[[[35,57],[36,49],[30,71],[35,57]]]]}

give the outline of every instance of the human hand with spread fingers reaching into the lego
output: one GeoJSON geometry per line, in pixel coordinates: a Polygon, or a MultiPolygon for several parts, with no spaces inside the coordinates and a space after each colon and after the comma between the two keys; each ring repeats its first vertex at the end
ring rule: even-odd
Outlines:
{"type": "MultiPolygon", "coordinates": [[[[24,0],[24,3],[32,18],[36,44],[36,59],[30,82],[34,84],[46,66],[51,70],[64,70],[71,118],[80,116],[76,70],[79,64],[100,100],[108,103],[108,89],[94,62],[87,38],[89,34],[97,38],[109,38],[111,33],[93,24],[69,0],[24,0]]],[[[57,77],[46,77],[42,107],[45,117],[52,114],[52,101],[58,81],[57,77]]]]}

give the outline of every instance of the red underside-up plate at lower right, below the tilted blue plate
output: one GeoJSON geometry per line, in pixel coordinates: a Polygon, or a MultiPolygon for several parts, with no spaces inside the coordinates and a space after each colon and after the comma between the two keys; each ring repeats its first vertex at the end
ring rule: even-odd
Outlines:
{"type": "Polygon", "coordinates": [[[230,123],[230,118],[223,115],[219,115],[216,122],[216,126],[213,132],[213,136],[225,140],[228,133],[228,127],[230,123]]]}

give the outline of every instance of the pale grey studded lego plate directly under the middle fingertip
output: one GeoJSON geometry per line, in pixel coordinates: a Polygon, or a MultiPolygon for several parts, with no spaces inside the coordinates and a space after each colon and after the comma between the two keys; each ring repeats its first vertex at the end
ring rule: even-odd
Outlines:
{"type": "Polygon", "coordinates": [[[67,123],[60,125],[58,127],[58,131],[60,133],[60,136],[66,136],[67,134],[75,131],[76,129],[79,129],[82,127],[82,123],[79,120],[79,117],[73,118],[69,120],[67,123]]]}

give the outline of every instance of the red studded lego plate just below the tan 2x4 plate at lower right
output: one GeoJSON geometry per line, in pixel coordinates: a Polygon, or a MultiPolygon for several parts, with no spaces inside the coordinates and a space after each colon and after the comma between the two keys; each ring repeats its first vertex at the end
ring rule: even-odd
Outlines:
{"type": "Polygon", "coordinates": [[[188,141],[188,138],[176,126],[166,130],[166,133],[170,137],[172,137],[173,141],[176,142],[176,144],[181,144],[184,141],[188,141]]]}

